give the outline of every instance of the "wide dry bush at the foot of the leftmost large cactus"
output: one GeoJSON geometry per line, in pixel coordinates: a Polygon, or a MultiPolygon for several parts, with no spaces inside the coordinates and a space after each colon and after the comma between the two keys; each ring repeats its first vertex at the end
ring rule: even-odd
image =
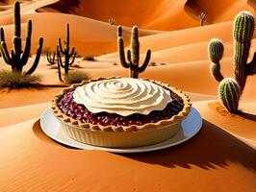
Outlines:
{"type": "Polygon", "coordinates": [[[38,75],[26,75],[24,73],[13,72],[2,69],[0,71],[0,87],[24,88],[34,86],[40,82],[38,75]]]}

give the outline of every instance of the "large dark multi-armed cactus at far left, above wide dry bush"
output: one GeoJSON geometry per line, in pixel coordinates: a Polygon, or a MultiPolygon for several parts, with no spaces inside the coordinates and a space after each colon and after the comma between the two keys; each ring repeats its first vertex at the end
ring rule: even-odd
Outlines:
{"type": "MultiPolygon", "coordinates": [[[[0,30],[0,52],[5,62],[12,66],[13,72],[22,73],[23,66],[27,63],[30,56],[31,50],[31,35],[32,35],[32,20],[27,22],[27,36],[26,45],[24,51],[22,51],[21,43],[21,28],[20,28],[20,5],[19,2],[14,3],[14,36],[13,36],[13,50],[10,56],[7,44],[5,40],[4,29],[0,30]]],[[[41,49],[43,44],[43,38],[40,37],[38,40],[38,51],[36,59],[31,68],[25,73],[27,75],[32,74],[38,67],[38,61],[40,59],[41,49]]]]}

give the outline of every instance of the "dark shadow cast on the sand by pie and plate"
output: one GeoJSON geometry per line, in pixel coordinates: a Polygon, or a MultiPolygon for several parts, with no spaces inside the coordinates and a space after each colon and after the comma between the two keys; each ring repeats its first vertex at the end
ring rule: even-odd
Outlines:
{"type": "MultiPolygon", "coordinates": [[[[39,121],[34,124],[33,130],[39,139],[51,144],[58,144],[41,131],[39,121]]],[[[201,131],[183,144],[156,152],[121,156],[168,168],[190,169],[192,166],[197,166],[210,170],[225,168],[229,162],[234,162],[256,171],[256,151],[206,120],[203,121],[201,131]]]]}

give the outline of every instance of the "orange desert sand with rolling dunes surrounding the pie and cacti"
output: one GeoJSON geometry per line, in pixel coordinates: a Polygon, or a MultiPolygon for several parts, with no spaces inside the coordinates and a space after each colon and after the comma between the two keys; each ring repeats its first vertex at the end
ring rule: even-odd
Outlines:
{"type": "MultiPolygon", "coordinates": [[[[0,1],[0,26],[9,48],[12,4],[0,1]]],[[[22,36],[31,18],[33,53],[39,36],[44,37],[44,47],[55,50],[68,22],[78,54],[95,56],[96,61],[75,61],[91,78],[129,76],[116,54],[116,26],[108,19],[124,26],[126,44],[130,28],[138,25],[141,60],[150,48],[156,65],[140,77],[185,91],[204,122],[190,141],[154,153],[120,156],[66,148],[39,126],[41,113],[64,87],[43,56],[36,73],[44,87],[0,90],[0,191],[256,191],[256,76],[247,79],[243,91],[244,115],[231,116],[218,103],[218,83],[209,72],[207,54],[209,40],[220,38],[225,46],[221,71],[233,76],[233,19],[243,10],[255,15],[255,8],[252,0],[22,1],[22,36]],[[207,16],[202,27],[200,12],[207,16]]],[[[250,50],[251,59],[256,34],[250,50]]],[[[3,68],[9,66],[0,58],[3,68]]]]}

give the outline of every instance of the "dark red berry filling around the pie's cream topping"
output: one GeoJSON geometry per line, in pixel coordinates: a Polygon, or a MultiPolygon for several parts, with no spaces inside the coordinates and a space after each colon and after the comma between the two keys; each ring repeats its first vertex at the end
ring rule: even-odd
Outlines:
{"type": "Polygon", "coordinates": [[[153,110],[147,115],[132,114],[129,116],[121,116],[107,112],[91,113],[88,108],[73,101],[73,92],[74,89],[70,89],[66,92],[60,99],[58,107],[65,115],[80,120],[83,123],[93,125],[141,126],[146,123],[156,123],[160,120],[169,119],[173,115],[178,114],[184,107],[183,100],[177,94],[170,91],[172,102],[170,102],[164,110],[153,110]]]}

